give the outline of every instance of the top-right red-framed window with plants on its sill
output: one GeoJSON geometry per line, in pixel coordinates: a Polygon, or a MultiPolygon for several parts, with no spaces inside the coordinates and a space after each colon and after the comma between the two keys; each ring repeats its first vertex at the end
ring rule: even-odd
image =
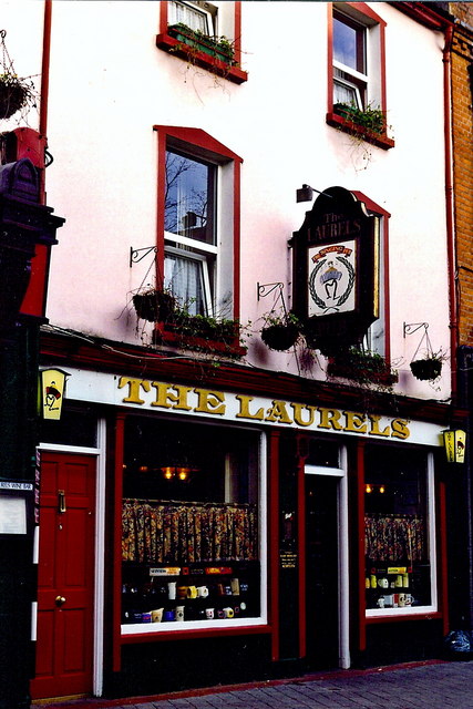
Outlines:
{"type": "Polygon", "coordinates": [[[364,2],[328,3],[327,123],[384,150],[394,145],[387,127],[385,21],[364,2]],[[367,110],[381,112],[381,130],[357,122],[367,110]]]}

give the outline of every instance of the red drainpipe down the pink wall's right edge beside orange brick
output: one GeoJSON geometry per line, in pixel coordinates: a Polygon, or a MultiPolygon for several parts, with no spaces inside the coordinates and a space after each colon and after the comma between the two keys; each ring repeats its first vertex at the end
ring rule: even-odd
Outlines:
{"type": "MultiPolygon", "coordinates": [[[[445,143],[445,227],[446,255],[449,269],[449,309],[450,309],[450,354],[451,362],[455,361],[459,325],[456,319],[455,289],[455,248],[454,248],[454,205],[453,205],[453,164],[452,164],[452,41],[453,25],[445,28],[445,45],[443,48],[443,112],[444,112],[444,143],[445,143]]],[[[451,387],[452,400],[456,398],[456,368],[452,367],[451,387]]]]}

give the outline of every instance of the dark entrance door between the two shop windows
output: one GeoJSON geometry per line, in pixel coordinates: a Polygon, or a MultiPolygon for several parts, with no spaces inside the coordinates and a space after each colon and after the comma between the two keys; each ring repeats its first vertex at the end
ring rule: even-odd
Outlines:
{"type": "Polygon", "coordinates": [[[339,479],[306,474],[307,659],[339,665],[339,479]]]}

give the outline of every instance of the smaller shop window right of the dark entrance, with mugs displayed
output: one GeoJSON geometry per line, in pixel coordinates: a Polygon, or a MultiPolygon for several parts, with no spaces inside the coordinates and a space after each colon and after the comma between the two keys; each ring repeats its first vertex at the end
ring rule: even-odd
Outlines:
{"type": "Polygon", "coordinates": [[[430,454],[367,448],[367,615],[436,609],[433,470],[430,454]]]}

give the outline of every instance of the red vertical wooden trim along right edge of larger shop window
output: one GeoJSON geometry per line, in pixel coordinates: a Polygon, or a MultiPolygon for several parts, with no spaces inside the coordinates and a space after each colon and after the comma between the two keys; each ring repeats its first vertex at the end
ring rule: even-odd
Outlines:
{"type": "Polygon", "coordinates": [[[268,434],[268,613],[271,659],[279,659],[279,431],[268,434]]]}

